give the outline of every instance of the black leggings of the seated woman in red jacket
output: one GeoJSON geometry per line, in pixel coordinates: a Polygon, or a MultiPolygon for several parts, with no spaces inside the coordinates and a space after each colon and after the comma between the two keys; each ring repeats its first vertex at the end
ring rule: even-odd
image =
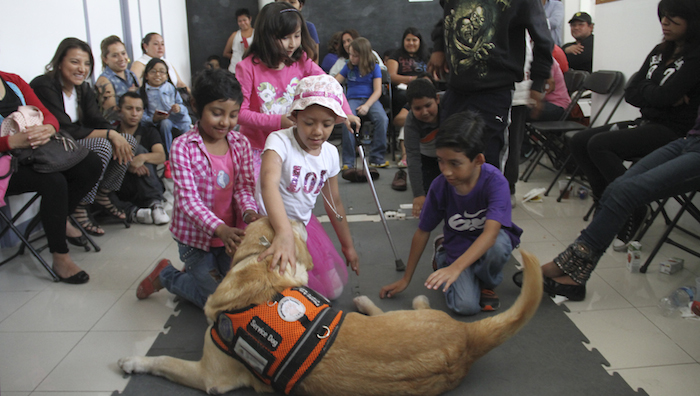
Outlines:
{"type": "Polygon", "coordinates": [[[51,253],[68,253],[66,218],[80,200],[97,184],[102,162],[94,152],[74,167],[55,173],[38,173],[20,165],[10,178],[6,195],[38,192],[41,195],[39,214],[44,225],[51,253]]]}

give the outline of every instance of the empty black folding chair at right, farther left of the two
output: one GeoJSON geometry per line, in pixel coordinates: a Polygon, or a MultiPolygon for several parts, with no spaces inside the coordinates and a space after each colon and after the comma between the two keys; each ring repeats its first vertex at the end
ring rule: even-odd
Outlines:
{"type": "MultiPolygon", "coordinates": [[[[562,156],[565,157],[566,151],[562,150],[562,146],[559,142],[555,142],[547,136],[547,125],[549,123],[564,122],[569,117],[571,111],[576,108],[579,99],[583,96],[585,91],[583,84],[586,78],[588,78],[588,75],[589,73],[586,71],[573,69],[564,73],[564,82],[566,83],[566,89],[571,97],[571,103],[569,103],[569,106],[564,110],[564,114],[558,121],[538,121],[525,125],[529,140],[533,144],[535,151],[530,158],[528,166],[520,176],[520,180],[527,182],[537,165],[541,165],[551,171],[556,171],[556,169],[552,169],[541,163],[545,155],[549,157],[550,162],[555,165],[555,168],[557,168],[557,162],[563,162],[560,158],[562,158],[562,156]]],[[[585,128],[585,126],[581,124],[581,128],[585,128]]]]}

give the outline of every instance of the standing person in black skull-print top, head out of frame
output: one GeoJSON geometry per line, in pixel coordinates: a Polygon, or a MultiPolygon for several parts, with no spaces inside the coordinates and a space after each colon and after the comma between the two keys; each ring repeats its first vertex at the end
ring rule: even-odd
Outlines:
{"type": "Polygon", "coordinates": [[[478,111],[485,122],[486,162],[504,166],[513,84],[523,79],[525,31],[533,41],[533,112],[539,114],[552,66],[552,37],[541,0],[441,0],[428,70],[449,71],[441,120],[478,111]]]}

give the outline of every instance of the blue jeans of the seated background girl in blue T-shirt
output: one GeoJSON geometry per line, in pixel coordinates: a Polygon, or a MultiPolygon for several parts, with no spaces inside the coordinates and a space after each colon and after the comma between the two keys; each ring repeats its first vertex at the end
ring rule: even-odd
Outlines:
{"type": "MultiPolygon", "coordinates": [[[[357,108],[364,104],[367,99],[348,99],[348,105],[352,110],[352,114],[357,115],[357,108]]],[[[386,153],[386,130],[389,126],[389,118],[379,101],[376,101],[369,107],[367,117],[372,121],[374,126],[374,135],[372,137],[372,145],[369,149],[369,162],[375,164],[384,163],[384,154],[386,153]]],[[[355,136],[343,124],[343,165],[352,168],[355,163],[355,136]]]]}

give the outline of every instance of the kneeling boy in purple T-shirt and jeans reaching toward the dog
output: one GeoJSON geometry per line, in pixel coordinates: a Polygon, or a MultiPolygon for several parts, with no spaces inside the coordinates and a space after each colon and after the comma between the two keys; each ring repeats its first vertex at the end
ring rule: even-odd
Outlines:
{"type": "Polygon", "coordinates": [[[468,111],[449,117],[435,138],[440,176],[430,185],[413,235],[406,272],[384,286],[380,297],[393,297],[411,282],[430,232],[442,220],[444,238],[435,240],[428,289],[442,288],[447,306],[461,315],[498,309],[493,289],[522,230],[511,221],[508,181],[485,163],[484,121],[468,111]]]}

